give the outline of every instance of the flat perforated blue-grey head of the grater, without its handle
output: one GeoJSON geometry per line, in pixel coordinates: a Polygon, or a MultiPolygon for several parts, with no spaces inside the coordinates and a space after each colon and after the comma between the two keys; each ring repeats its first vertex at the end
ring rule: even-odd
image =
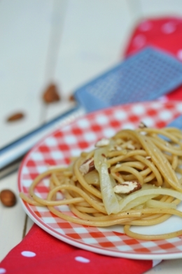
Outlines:
{"type": "Polygon", "coordinates": [[[87,85],[75,97],[87,111],[155,100],[181,85],[182,64],[171,55],[146,48],[87,85]]]}

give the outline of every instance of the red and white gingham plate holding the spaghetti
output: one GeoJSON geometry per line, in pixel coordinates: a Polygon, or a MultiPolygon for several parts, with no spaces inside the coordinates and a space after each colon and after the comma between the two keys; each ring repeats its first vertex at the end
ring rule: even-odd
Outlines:
{"type": "MultiPolygon", "coordinates": [[[[67,165],[70,156],[94,147],[102,137],[111,137],[122,128],[137,128],[140,121],[149,127],[162,128],[182,114],[182,102],[146,102],[111,107],[87,114],[75,122],[52,132],[27,154],[18,177],[18,189],[28,193],[31,181],[49,165],[67,165]]],[[[36,189],[45,198],[48,193],[44,180],[36,189]]],[[[44,207],[35,207],[22,201],[29,217],[38,226],[59,240],[82,249],[110,256],[130,259],[175,259],[182,257],[182,237],[169,240],[134,240],[123,233],[122,226],[95,228],[64,221],[44,207]]],[[[62,210],[69,212],[64,206],[62,210]]],[[[71,212],[69,212],[71,214],[71,212]]],[[[167,233],[181,229],[179,217],[152,227],[132,228],[139,233],[167,233]]]]}

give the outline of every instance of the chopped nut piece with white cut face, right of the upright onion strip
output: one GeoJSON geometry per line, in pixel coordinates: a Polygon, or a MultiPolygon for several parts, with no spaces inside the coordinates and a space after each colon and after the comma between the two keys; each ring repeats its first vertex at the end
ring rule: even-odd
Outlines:
{"type": "Polygon", "coordinates": [[[117,184],[113,187],[115,193],[130,194],[141,189],[139,181],[125,181],[123,184],[117,184]]]}

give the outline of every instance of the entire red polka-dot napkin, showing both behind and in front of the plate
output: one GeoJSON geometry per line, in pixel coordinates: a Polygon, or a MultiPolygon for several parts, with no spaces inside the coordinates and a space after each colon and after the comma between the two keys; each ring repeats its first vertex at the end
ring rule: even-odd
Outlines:
{"type": "MultiPolygon", "coordinates": [[[[182,19],[160,18],[142,21],[134,29],[125,50],[125,57],[146,46],[165,50],[182,61],[182,19]]],[[[182,87],[163,99],[182,100],[182,87]]],[[[1,261],[0,273],[141,274],[157,263],[160,263],[160,260],[123,259],[85,251],[57,240],[34,224],[24,240],[1,261]]]]}

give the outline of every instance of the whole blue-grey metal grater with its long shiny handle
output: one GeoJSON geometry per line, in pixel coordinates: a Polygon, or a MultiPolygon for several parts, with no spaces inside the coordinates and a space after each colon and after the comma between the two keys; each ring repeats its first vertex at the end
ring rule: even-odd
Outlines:
{"type": "Polygon", "coordinates": [[[145,48],[74,93],[76,107],[0,149],[0,170],[21,158],[55,128],[87,112],[117,104],[155,100],[182,84],[182,63],[154,48],[145,48]]]}

